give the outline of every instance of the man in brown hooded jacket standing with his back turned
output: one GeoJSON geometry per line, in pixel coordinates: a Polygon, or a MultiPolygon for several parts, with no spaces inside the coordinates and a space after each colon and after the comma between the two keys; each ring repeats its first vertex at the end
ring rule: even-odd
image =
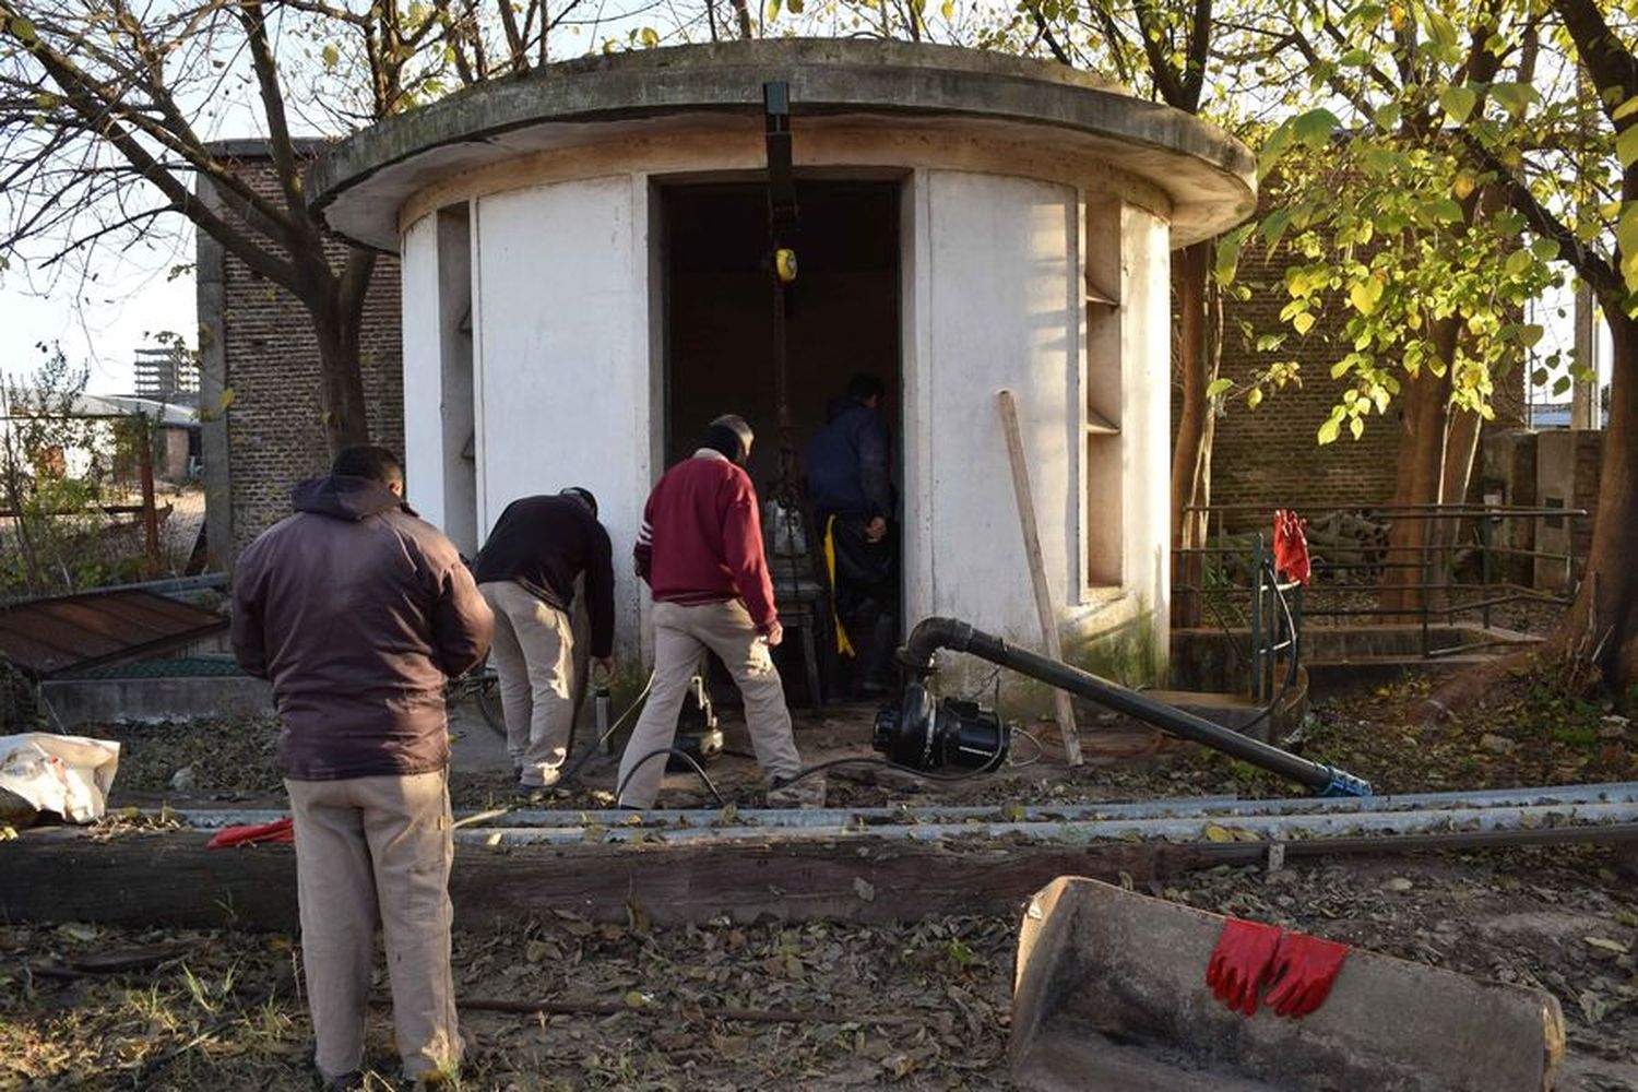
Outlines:
{"type": "Polygon", "coordinates": [[[233,652],[278,707],[313,1061],[329,1089],[360,1079],[377,922],[405,1076],[432,1087],[460,1064],[444,681],[483,660],[493,619],[403,488],[391,452],[349,447],[234,570],[233,652]]]}

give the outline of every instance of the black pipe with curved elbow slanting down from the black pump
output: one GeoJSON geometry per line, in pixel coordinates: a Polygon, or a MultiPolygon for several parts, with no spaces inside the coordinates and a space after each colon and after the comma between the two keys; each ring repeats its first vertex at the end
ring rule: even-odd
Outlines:
{"type": "Polygon", "coordinates": [[[1210,747],[1248,761],[1253,766],[1261,766],[1283,778],[1305,784],[1320,796],[1371,796],[1371,784],[1363,778],[1324,763],[1299,758],[1291,751],[1283,751],[1278,747],[1212,724],[1204,717],[1196,717],[1191,712],[1158,702],[1153,697],[1145,697],[1137,691],[1111,683],[1109,679],[1101,679],[1068,663],[1048,660],[1027,648],[1017,648],[1001,637],[973,629],[968,622],[950,617],[922,619],[911,632],[899,655],[909,670],[925,676],[934,671],[932,658],[939,648],[965,652],[1019,675],[1027,675],[1048,686],[1079,694],[1115,712],[1153,724],[1156,729],[1179,738],[1210,747]]]}

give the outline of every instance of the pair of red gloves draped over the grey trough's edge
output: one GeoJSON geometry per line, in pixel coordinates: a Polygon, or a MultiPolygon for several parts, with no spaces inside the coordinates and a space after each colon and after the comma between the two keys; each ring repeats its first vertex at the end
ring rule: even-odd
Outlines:
{"type": "Polygon", "coordinates": [[[1346,958],[1346,945],[1232,917],[1206,964],[1206,984],[1217,1000],[1248,1017],[1268,986],[1263,1004],[1276,1015],[1301,1020],[1325,1004],[1346,958]]]}

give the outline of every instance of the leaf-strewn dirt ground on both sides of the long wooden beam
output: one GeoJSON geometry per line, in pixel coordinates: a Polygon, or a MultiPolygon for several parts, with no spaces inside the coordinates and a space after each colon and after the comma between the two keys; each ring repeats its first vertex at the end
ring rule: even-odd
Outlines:
{"type": "MultiPolygon", "coordinates": [[[[1335,697],[1304,725],[1309,756],[1371,778],[1379,791],[1504,787],[1631,776],[1627,725],[1613,709],[1558,696],[1530,671],[1509,678],[1459,720],[1410,720],[1425,684],[1335,697]]],[[[811,761],[868,753],[870,711],[801,719],[811,761]]],[[[1089,714],[1094,765],[1065,769],[1048,725],[1022,725],[1019,765],[960,784],[919,784],[862,768],[829,779],[832,804],[1071,802],[1291,786],[1138,727],[1089,714]]],[[[457,733],[483,733],[462,717],[457,733]]],[[[269,805],[282,796],[272,725],[108,729],[126,743],[115,804],[269,805]],[[187,791],[170,789],[182,768],[187,791]]],[[[457,807],[508,802],[509,771],[467,763],[457,740],[457,807]]],[[[729,724],[729,747],[744,747],[729,724]]],[[[505,751],[501,751],[505,760],[505,751]]],[[[711,768],[724,796],[753,805],[752,765],[711,768]]],[[[608,802],[609,768],[562,805],[608,802]]],[[[662,804],[706,802],[691,774],[662,804]]],[[[138,835],[139,837],[139,835],[138,835]]],[[[1456,971],[1540,986],[1563,1005],[1569,1048],[1561,1089],[1638,1089],[1638,887],[1631,851],[1512,850],[1304,861],[1278,873],[1219,868],[1150,891],[1456,971]]],[[[947,907],[958,910],[958,907],[947,907]]],[[[549,915],[503,932],[462,930],[460,997],[549,999],[583,1009],[552,1017],[464,1013],[465,1087],[534,1089],[1002,1089],[1016,922],[932,915],[896,927],[704,923],[649,930],[549,915]],[[796,1022],[726,1020],[721,1007],[803,1013],[796,1022]]],[[[88,925],[0,928],[0,1092],[13,1089],[305,1089],[310,1028],[288,936],[131,932],[88,925]],[[157,966],[64,977],[87,953],[165,945],[157,966]],[[29,969],[34,966],[36,969],[29,969]],[[41,971],[39,968],[46,968],[41,971]],[[57,976],[49,974],[59,968],[57,976]]],[[[70,972],[72,974],[72,972],[70,972]]],[[[1204,974],[1204,968],[1202,968],[1204,974]]],[[[385,981],[378,982],[385,999],[385,981]]],[[[370,1058],[391,1061],[385,1010],[370,1058]]],[[[385,1082],[375,1087],[387,1087],[385,1082]]]]}

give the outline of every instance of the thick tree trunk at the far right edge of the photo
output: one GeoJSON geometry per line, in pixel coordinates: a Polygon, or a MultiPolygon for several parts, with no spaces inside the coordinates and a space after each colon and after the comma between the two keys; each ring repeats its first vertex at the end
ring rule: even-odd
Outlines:
{"type": "Polygon", "coordinates": [[[1599,511],[1581,591],[1548,652],[1564,657],[1572,686],[1638,684],[1638,321],[1602,300],[1613,342],[1610,422],[1604,434],[1599,511]]]}

